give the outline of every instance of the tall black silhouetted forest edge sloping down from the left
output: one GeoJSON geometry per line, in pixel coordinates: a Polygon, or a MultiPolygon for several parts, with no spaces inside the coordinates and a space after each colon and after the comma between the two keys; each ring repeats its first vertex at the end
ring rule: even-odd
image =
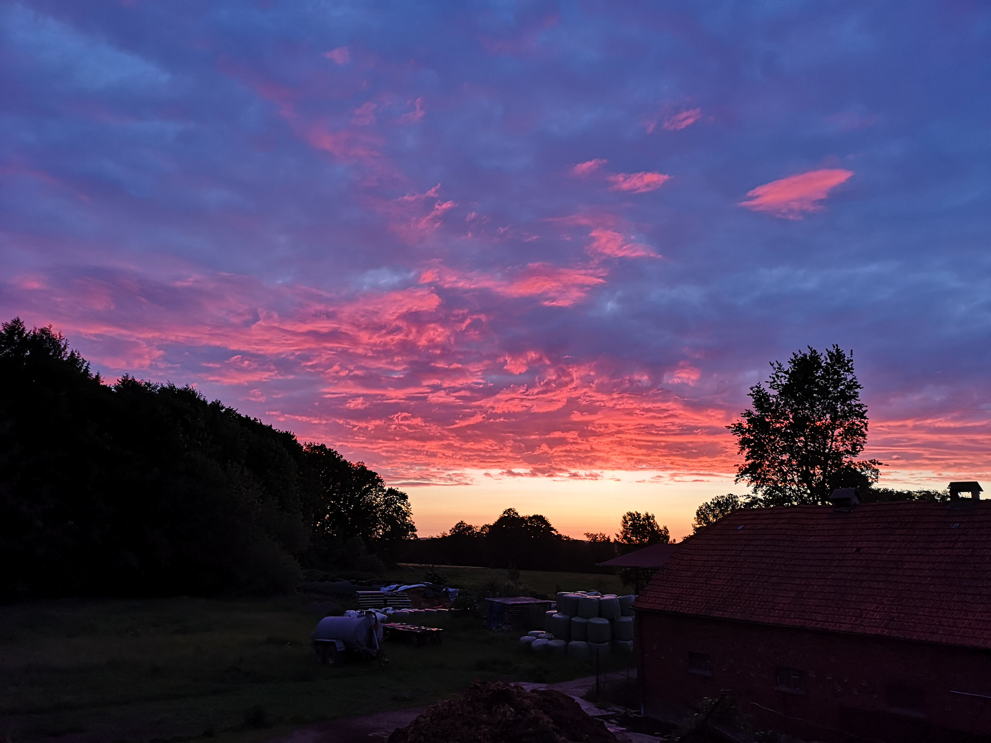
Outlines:
{"type": "Polygon", "coordinates": [[[415,531],[361,463],[189,386],[104,383],[52,328],[0,329],[0,596],[271,592],[415,531]]]}

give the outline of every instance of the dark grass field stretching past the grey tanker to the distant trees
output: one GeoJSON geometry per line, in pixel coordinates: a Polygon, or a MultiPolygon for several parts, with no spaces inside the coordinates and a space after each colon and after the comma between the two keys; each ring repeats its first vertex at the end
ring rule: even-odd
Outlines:
{"type": "MultiPolygon", "coordinates": [[[[442,572],[466,586],[493,578],[483,569],[442,572]]],[[[408,569],[393,577],[422,579],[408,569]]],[[[610,576],[524,571],[520,581],[546,592],[618,588],[610,576]]],[[[475,679],[553,682],[593,673],[591,663],[525,655],[518,633],[489,632],[470,618],[452,619],[440,647],[386,643],[386,667],[357,660],[321,666],[309,646],[318,617],[304,610],[307,600],[65,599],[0,607],[0,735],[10,743],[80,733],[113,742],[264,740],[291,725],[428,704],[475,679]],[[275,728],[251,732],[267,725],[275,728]]]]}

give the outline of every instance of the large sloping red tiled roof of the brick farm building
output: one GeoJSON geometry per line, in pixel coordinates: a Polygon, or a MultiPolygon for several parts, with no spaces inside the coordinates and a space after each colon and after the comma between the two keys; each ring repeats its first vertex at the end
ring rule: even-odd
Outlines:
{"type": "Polygon", "coordinates": [[[634,607],[991,648],[991,501],[734,511],[634,607]]]}

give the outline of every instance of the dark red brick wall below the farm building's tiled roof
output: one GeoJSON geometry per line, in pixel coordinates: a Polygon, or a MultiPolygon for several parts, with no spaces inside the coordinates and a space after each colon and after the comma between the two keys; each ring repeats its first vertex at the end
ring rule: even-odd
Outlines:
{"type": "Polygon", "coordinates": [[[991,651],[655,611],[636,632],[648,713],[730,690],[757,727],[815,740],[991,735],[991,651]]]}

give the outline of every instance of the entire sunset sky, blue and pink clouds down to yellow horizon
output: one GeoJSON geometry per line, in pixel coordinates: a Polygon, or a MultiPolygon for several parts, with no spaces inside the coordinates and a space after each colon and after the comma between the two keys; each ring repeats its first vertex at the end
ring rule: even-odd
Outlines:
{"type": "Polygon", "coordinates": [[[976,0],[0,3],[2,319],[421,535],[680,537],[745,490],[748,386],[833,343],[882,485],[991,480],[989,185],[976,0]]]}

